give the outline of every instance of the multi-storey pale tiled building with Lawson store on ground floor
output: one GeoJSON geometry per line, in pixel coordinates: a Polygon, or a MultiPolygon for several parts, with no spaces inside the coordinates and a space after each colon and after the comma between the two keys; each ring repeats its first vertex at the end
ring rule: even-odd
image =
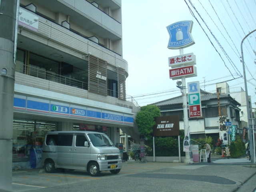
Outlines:
{"type": "Polygon", "coordinates": [[[29,166],[48,131],[133,130],[126,99],[121,0],[20,0],[13,166],[29,166]]]}

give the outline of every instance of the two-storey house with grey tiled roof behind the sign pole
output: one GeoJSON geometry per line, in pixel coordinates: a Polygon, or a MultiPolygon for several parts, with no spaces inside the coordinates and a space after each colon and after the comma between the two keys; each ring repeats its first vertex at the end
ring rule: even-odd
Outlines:
{"type": "MultiPolygon", "coordinates": [[[[219,95],[219,101],[220,105],[218,104],[218,95],[216,93],[212,94],[201,90],[202,117],[189,118],[190,137],[192,139],[211,136],[213,144],[216,144],[219,138],[219,112],[222,117],[226,118],[226,122],[232,122],[232,124],[237,125],[237,133],[242,134],[242,127],[239,126],[240,109],[238,107],[240,103],[232,98],[230,94],[222,93],[219,95]]],[[[160,108],[162,116],[179,115],[180,129],[184,129],[182,96],[156,102],[152,105],[160,108]]]]}

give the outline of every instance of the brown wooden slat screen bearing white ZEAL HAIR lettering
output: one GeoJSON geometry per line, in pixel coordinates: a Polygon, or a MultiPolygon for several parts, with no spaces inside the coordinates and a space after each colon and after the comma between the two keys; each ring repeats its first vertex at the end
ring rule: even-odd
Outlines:
{"type": "Polygon", "coordinates": [[[88,91],[107,95],[107,62],[88,56],[88,91]]]}

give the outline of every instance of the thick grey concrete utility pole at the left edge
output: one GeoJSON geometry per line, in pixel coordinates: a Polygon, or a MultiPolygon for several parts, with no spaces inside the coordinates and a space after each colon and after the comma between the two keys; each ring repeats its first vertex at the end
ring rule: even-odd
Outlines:
{"type": "Polygon", "coordinates": [[[12,125],[18,0],[0,0],[0,191],[12,191],[12,125]]]}

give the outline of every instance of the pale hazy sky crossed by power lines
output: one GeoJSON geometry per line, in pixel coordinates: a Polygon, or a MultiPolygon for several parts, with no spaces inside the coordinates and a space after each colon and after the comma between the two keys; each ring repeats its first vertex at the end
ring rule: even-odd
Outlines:
{"type": "MultiPolygon", "coordinates": [[[[180,50],[168,49],[170,24],[192,20],[195,44],[183,54],[196,55],[200,88],[216,92],[216,83],[227,82],[230,92],[244,87],[242,39],[256,29],[256,0],[122,0],[123,58],[128,62],[126,94],[145,106],[176,96],[177,80],[169,78],[168,57],[180,50]],[[187,5],[188,4],[188,5],[187,5]],[[189,7],[188,7],[189,6],[189,7]],[[189,9],[190,8],[190,9],[189,9]],[[194,15],[192,15],[192,14],[194,15]]],[[[256,108],[256,32],[243,42],[248,95],[256,108]]]]}

